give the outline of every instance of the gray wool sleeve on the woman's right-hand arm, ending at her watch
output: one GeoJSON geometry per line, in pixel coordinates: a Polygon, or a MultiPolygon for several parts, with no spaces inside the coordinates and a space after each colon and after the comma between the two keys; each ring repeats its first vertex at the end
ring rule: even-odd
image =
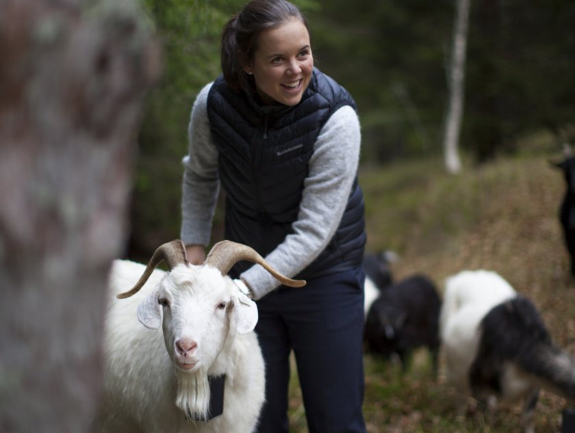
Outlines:
{"type": "MultiPolygon", "coordinates": [[[[266,260],[285,276],[295,276],[329,244],[346,208],[357,174],[361,131],[352,107],[344,106],[324,124],[314,144],[294,233],[270,252],[266,260]]],[[[263,267],[242,274],[259,299],[279,286],[263,267]]],[[[305,290],[294,289],[294,290],[305,290]]]]}

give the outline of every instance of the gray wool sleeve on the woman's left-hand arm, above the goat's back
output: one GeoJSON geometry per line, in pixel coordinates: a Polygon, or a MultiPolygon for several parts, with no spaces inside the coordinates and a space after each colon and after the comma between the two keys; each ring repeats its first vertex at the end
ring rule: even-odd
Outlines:
{"type": "Polygon", "coordinates": [[[188,127],[189,153],[183,158],[181,232],[184,244],[209,244],[212,220],[220,191],[218,150],[207,118],[207,94],[212,83],[198,94],[188,127]]]}

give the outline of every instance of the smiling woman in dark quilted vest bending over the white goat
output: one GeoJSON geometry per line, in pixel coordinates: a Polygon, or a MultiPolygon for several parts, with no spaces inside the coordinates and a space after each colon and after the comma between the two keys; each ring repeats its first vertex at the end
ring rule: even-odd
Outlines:
{"type": "Polygon", "coordinates": [[[222,34],[222,72],[198,95],[184,158],[181,239],[202,263],[220,185],[225,238],[249,245],[300,289],[241,262],[266,360],[259,433],[288,432],[293,350],[310,432],[365,432],[363,279],[355,103],[314,68],[307,22],[285,0],[253,0],[222,34]]]}

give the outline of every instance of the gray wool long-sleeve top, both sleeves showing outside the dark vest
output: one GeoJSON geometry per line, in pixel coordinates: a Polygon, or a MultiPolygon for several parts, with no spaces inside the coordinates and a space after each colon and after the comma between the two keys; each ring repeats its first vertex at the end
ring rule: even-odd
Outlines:
{"type": "MultiPolygon", "coordinates": [[[[181,240],[186,245],[209,244],[220,188],[218,150],[207,117],[207,94],[211,87],[209,83],[201,90],[192,108],[189,155],[183,158],[181,240]]],[[[360,143],[355,110],[350,106],[337,109],[314,144],[298,218],[292,223],[294,232],[265,257],[285,276],[295,276],[314,261],[337,230],[357,172],[360,143]]],[[[255,299],[280,284],[259,265],[246,270],[241,277],[251,287],[255,299]]]]}

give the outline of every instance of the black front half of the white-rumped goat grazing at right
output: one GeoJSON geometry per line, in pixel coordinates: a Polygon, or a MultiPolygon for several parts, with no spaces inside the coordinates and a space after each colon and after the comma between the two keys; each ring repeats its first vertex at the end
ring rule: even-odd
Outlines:
{"type": "Polygon", "coordinates": [[[575,361],[554,345],[533,303],[516,296],[481,320],[478,350],[469,371],[474,397],[524,398],[524,431],[533,432],[539,388],[575,399],[575,361]]]}

